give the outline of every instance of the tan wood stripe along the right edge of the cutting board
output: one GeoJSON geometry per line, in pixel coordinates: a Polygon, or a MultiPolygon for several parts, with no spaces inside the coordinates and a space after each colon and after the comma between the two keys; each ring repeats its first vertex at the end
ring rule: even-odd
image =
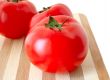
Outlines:
{"type": "Polygon", "coordinates": [[[105,65],[103,63],[103,60],[100,55],[100,51],[99,51],[98,46],[96,44],[95,38],[94,38],[92,31],[90,29],[90,25],[88,23],[88,20],[87,20],[86,16],[83,14],[79,14],[79,16],[81,19],[81,23],[84,26],[84,29],[86,30],[88,38],[89,38],[89,44],[90,44],[89,47],[90,47],[90,50],[92,53],[91,55],[94,60],[96,70],[98,72],[99,79],[100,80],[109,80],[109,75],[108,75],[107,70],[105,68],[105,65]]]}

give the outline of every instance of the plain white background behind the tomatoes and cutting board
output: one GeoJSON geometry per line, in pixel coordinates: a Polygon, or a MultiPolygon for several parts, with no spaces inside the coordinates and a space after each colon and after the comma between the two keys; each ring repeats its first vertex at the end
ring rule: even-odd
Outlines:
{"type": "Polygon", "coordinates": [[[110,76],[110,1],[109,0],[30,0],[37,10],[55,3],[66,4],[73,13],[88,17],[91,29],[110,76]]]}

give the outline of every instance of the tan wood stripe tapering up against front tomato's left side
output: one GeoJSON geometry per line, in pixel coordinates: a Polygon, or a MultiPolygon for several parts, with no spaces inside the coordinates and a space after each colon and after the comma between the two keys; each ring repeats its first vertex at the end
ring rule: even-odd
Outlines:
{"type": "Polygon", "coordinates": [[[19,67],[17,71],[16,80],[28,80],[29,69],[30,69],[30,62],[28,61],[25,55],[25,51],[23,47],[21,56],[20,56],[20,62],[19,62],[19,67]]]}

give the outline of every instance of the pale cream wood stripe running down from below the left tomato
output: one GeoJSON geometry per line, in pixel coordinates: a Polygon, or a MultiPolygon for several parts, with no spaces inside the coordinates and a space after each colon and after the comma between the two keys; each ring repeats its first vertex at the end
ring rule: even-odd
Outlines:
{"type": "MultiPolygon", "coordinates": [[[[24,39],[13,40],[10,56],[4,70],[3,80],[15,80],[24,39]]],[[[5,58],[5,57],[4,57],[5,58]]]]}

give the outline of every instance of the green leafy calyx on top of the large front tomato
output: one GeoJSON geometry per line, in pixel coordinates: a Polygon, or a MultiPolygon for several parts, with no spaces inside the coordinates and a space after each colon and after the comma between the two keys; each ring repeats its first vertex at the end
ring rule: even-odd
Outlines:
{"type": "Polygon", "coordinates": [[[58,30],[61,30],[64,23],[59,24],[52,16],[50,16],[49,22],[47,24],[45,24],[45,26],[50,29],[57,28],[58,30]]]}

